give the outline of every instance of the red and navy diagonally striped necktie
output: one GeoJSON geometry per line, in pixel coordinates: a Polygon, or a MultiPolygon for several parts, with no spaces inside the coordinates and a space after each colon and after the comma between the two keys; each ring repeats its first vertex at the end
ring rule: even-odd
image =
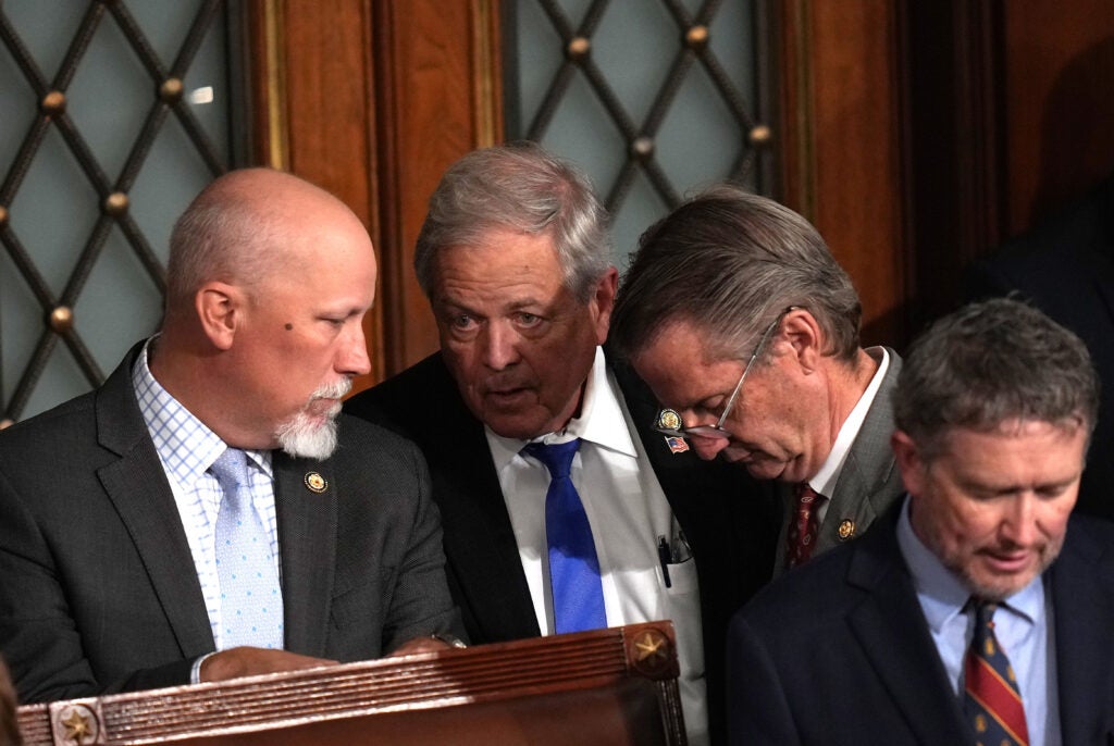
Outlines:
{"type": "Polygon", "coordinates": [[[997,603],[971,599],[975,636],[964,659],[964,711],[975,728],[975,743],[1027,746],[1029,732],[1017,677],[994,636],[997,603]]]}

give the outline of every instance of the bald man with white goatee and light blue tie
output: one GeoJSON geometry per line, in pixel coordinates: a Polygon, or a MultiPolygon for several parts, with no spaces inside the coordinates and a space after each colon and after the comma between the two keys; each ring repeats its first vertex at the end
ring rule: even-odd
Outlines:
{"type": "Polygon", "coordinates": [[[338,420],[370,367],[360,220],[251,169],[170,244],[160,334],[0,433],[0,650],[23,701],[374,658],[456,624],[420,453],[338,420]]]}

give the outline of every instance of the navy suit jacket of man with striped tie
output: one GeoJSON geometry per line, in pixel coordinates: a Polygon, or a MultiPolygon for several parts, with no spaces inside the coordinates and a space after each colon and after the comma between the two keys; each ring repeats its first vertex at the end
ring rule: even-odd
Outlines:
{"type": "MultiPolygon", "coordinates": [[[[898,514],[770,585],[732,621],[732,743],[975,743],[898,548],[898,514]]],[[[1114,743],[1114,528],[1073,518],[1048,572],[1064,744],[1114,743]]]]}

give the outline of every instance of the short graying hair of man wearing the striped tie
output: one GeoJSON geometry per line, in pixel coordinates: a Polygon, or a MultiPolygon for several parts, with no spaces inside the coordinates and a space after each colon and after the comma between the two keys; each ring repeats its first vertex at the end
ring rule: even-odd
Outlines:
{"type": "Polygon", "coordinates": [[[995,298],[944,316],[912,343],[893,408],[898,429],[930,460],[952,428],[1036,421],[1089,435],[1098,376],[1079,337],[1025,303],[995,298]]]}

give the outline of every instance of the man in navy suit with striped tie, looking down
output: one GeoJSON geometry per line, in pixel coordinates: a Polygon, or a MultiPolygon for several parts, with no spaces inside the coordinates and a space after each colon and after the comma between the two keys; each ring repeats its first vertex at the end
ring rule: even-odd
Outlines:
{"type": "Polygon", "coordinates": [[[1039,311],[937,322],[895,400],[908,498],[732,622],[733,743],[1114,743],[1114,528],[1071,517],[1096,404],[1039,311]]]}

